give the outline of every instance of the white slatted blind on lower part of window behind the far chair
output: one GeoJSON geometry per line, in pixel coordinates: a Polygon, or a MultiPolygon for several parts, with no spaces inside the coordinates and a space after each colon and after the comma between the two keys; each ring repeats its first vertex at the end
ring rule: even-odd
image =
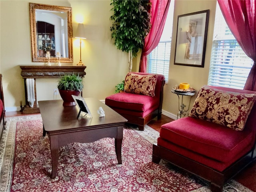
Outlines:
{"type": "Polygon", "coordinates": [[[171,41],[162,41],[147,56],[147,72],[163,74],[165,82],[168,83],[169,65],[170,65],[171,41]]]}

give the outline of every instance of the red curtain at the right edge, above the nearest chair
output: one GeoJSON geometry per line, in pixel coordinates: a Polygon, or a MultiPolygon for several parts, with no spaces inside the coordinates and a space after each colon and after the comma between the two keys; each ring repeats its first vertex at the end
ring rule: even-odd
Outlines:
{"type": "Polygon", "coordinates": [[[254,61],[244,89],[256,91],[256,0],[218,0],[220,10],[244,52],[254,61]]]}

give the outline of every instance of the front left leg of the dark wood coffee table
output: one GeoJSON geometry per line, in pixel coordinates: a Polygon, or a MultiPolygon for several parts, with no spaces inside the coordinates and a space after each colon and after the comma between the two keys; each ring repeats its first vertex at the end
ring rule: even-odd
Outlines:
{"type": "Polygon", "coordinates": [[[49,136],[50,138],[50,149],[52,155],[52,176],[51,178],[56,178],[57,168],[58,168],[58,158],[59,158],[59,146],[58,146],[58,135],[49,136]]]}

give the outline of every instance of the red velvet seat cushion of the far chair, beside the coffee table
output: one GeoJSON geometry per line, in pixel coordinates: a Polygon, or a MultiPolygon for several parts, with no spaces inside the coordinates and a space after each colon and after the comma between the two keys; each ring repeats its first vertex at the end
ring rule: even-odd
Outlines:
{"type": "Polygon", "coordinates": [[[105,104],[111,108],[145,112],[149,109],[155,110],[158,108],[159,98],[121,92],[106,97],[105,104]]]}

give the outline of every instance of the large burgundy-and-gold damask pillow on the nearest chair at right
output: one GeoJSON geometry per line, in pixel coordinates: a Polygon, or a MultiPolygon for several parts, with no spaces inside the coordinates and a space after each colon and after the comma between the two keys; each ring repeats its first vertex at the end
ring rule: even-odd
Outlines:
{"type": "Polygon", "coordinates": [[[189,116],[243,130],[256,94],[227,92],[203,86],[189,116]]]}

